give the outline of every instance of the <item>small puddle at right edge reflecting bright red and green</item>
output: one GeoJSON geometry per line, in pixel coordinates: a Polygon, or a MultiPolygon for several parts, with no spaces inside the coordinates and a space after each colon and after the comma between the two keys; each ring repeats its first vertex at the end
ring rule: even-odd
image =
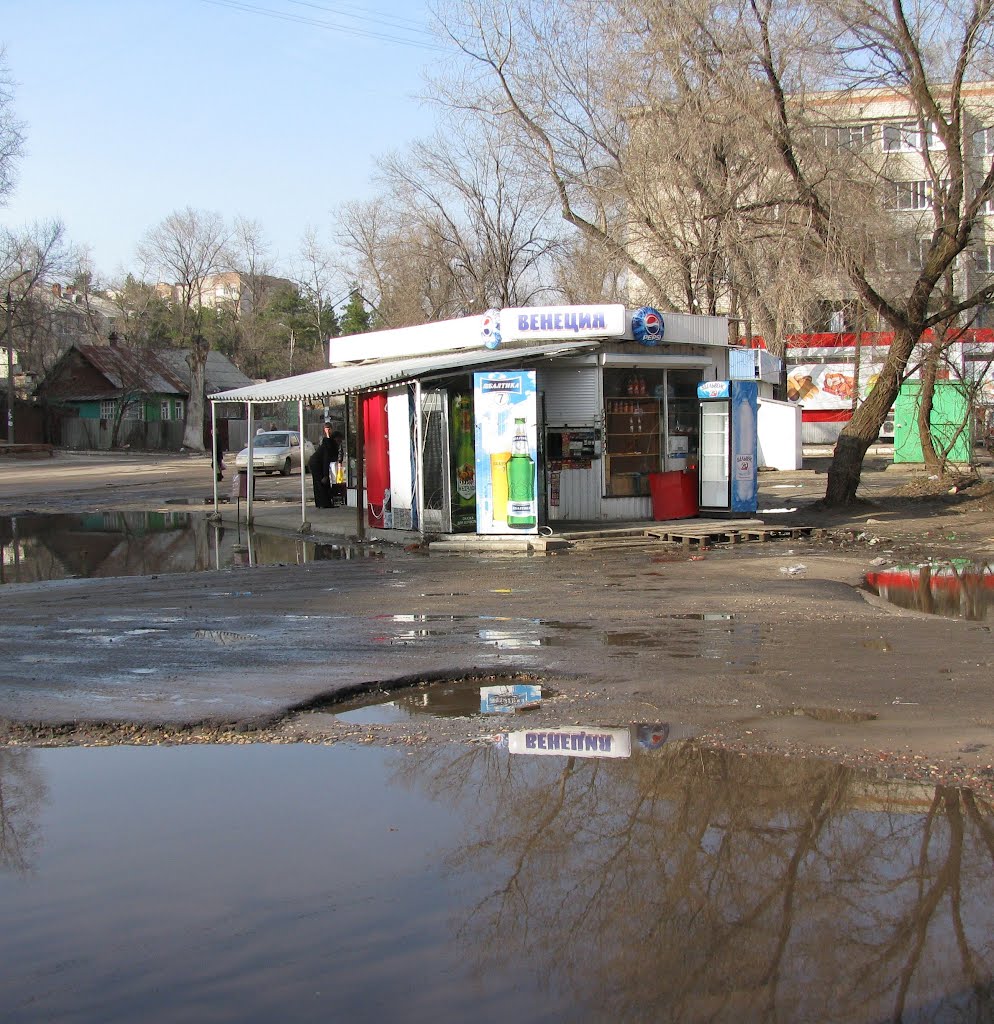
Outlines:
{"type": "Polygon", "coordinates": [[[866,573],[866,586],[899,608],[947,618],[994,617],[994,562],[953,559],[866,573]]]}

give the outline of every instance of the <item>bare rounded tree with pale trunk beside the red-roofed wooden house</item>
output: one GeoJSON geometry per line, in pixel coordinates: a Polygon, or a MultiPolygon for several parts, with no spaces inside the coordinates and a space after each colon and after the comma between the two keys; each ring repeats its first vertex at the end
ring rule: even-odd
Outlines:
{"type": "Polygon", "coordinates": [[[139,254],[174,289],[176,339],[188,348],[189,402],[183,444],[204,451],[205,372],[210,352],[204,305],[205,280],[229,265],[230,234],[218,213],[186,207],[171,213],[144,237],[139,254]]]}

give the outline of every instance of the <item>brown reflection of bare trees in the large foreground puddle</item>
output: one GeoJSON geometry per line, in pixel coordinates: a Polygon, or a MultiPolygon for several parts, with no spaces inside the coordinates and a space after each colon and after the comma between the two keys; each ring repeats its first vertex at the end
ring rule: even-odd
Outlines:
{"type": "Polygon", "coordinates": [[[994,825],[969,793],[691,744],[417,767],[479,815],[451,865],[498,880],[462,928],[481,971],[524,958],[619,1019],[991,1012],[994,825]]]}

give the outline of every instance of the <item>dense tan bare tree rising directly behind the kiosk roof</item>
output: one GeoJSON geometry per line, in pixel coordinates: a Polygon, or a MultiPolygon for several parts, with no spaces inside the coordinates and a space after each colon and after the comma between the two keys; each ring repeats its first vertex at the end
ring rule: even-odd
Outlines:
{"type": "Polygon", "coordinates": [[[729,312],[782,347],[815,267],[764,136],[727,108],[736,59],[696,10],[585,0],[450,0],[465,55],[437,98],[494,126],[626,298],[729,312]],[[564,39],[571,45],[561,45],[564,39]],[[615,271],[616,272],[616,271],[615,271]]]}

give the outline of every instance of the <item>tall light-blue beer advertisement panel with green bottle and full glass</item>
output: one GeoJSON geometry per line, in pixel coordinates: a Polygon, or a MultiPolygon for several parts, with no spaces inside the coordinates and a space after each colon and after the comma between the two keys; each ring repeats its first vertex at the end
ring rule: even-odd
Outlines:
{"type": "Polygon", "coordinates": [[[535,373],[473,375],[476,531],[538,531],[535,373]]]}

